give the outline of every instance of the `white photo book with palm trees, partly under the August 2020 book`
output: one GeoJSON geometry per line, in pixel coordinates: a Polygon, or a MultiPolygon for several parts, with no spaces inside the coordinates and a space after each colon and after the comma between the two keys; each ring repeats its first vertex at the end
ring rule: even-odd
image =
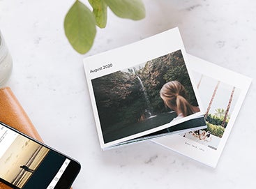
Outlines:
{"type": "Polygon", "coordinates": [[[251,79],[188,55],[206,112],[206,129],[153,139],[153,142],[216,167],[251,79]]]}

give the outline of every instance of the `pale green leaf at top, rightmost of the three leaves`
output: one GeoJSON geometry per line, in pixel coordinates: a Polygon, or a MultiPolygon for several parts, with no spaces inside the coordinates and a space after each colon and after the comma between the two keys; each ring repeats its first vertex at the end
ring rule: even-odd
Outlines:
{"type": "Polygon", "coordinates": [[[118,17],[142,20],[145,17],[144,3],[141,0],[104,0],[118,17]]]}

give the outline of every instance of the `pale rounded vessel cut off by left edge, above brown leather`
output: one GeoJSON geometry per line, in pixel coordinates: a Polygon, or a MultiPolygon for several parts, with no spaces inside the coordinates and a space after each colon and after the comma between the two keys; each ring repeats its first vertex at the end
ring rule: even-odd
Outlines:
{"type": "Polygon", "coordinates": [[[13,69],[13,60],[0,31],[0,87],[3,86],[13,69]]]}

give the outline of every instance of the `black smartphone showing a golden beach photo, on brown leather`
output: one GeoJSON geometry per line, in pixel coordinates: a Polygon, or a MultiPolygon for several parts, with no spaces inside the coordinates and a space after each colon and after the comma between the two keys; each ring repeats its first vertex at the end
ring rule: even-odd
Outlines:
{"type": "Polygon", "coordinates": [[[0,122],[0,181],[15,189],[69,189],[80,163],[0,122]]]}

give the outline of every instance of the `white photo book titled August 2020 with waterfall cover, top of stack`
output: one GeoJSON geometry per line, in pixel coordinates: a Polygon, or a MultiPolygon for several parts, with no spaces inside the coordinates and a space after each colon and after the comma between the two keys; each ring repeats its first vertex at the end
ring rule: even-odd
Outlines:
{"type": "Polygon", "coordinates": [[[206,128],[179,29],[84,59],[102,149],[206,128]]]}

